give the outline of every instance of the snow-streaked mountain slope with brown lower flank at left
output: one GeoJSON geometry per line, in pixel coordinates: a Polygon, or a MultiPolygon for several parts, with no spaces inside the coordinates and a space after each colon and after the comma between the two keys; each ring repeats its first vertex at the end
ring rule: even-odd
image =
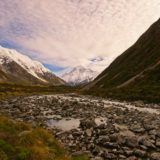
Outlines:
{"type": "Polygon", "coordinates": [[[14,84],[63,85],[65,82],[40,62],[13,49],[0,46],[0,82],[14,84]]]}

